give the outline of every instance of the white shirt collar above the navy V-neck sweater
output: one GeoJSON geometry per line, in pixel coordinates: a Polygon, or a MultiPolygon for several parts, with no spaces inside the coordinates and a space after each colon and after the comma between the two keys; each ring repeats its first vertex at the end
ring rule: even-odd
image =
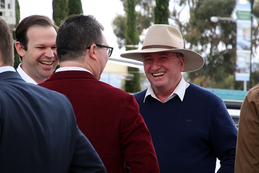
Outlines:
{"type": "MultiPolygon", "coordinates": [[[[173,91],[173,93],[166,99],[165,103],[172,99],[173,97],[175,97],[176,95],[178,95],[178,97],[181,99],[181,101],[183,101],[184,99],[184,94],[185,94],[185,90],[186,88],[188,88],[188,86],[190,86],[190,84],[188,82],[185,82],[183,76],[179,82],[179,84],[176,86],[175,90],[173,91]]],[[[159,100],[157,98],[157,96],[155,95],[154,93],[154,88],[151,86],[151,84],[149,84],[148,86],[148,90],[146,92],[146,95],[145,95],[145,98],[144,98],[144,102],[145,102],[145,99],[148,95],[151,95],[152,97],[154,97],[155,99],[159,100]]],[[[161,100],[159,100],[161,101],[161,100]]],[[[162,102],[162,101],[161,101],[162,102]]],[[[162,102],[163,103],[163,102],[162,102]]]]}

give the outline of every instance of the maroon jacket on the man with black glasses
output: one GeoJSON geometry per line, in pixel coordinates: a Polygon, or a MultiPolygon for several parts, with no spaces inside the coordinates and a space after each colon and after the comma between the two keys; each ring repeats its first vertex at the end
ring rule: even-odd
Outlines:
{"type": "Polygon", "coordinates": [[[151,135],[135,97],[86,71],[61,71],[39,84],[65,94],[79,129],[102,159],[107,173],[158,173],[151,135]]]}

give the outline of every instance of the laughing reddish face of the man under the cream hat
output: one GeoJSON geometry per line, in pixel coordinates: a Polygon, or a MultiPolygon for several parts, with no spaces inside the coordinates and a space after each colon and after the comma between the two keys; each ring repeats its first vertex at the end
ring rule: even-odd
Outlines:
{"type": "Polygon", "coordinates": [[[184,57],[175,52],[143,53],[145,74],[154,90],[172,90],[181,80],[184,69],[184,57]]]}

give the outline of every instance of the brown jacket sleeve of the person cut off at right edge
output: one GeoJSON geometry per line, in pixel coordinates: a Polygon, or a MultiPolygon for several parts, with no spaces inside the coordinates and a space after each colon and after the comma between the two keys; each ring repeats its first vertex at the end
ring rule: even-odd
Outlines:
{"type": "MultiPolygon", "coordinates": [[[[258,88],[258,87],[257,87],[258,88]]],[[[259,172],[259,102],[257,92],[248,91],[241,107],[236,147],[235,173],[259,172]]]]}

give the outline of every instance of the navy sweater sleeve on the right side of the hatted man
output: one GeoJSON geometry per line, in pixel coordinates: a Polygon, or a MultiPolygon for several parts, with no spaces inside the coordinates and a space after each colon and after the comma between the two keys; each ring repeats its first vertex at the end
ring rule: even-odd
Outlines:
{"type": "Polygon", "coordinates": [[[221,98],[216,100],[212,115],[212,147],[221,165],[218,172],[234,172],[237,128],[221,98]]]}

